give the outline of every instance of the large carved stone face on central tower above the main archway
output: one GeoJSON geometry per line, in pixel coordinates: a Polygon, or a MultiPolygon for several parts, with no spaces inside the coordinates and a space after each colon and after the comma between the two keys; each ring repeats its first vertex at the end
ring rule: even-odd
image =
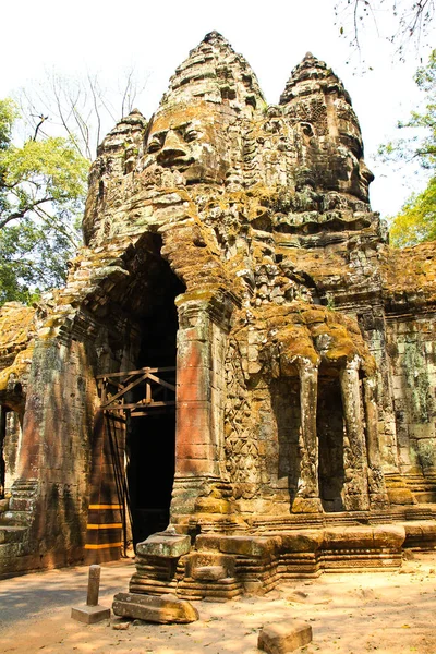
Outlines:
{"type": "Polygon", "coordinates": [[[231,165],[228,124],[229,117],[210,102],[164,109],[152,125],[146,153],[187,183],[222,182],[231,165]]]}

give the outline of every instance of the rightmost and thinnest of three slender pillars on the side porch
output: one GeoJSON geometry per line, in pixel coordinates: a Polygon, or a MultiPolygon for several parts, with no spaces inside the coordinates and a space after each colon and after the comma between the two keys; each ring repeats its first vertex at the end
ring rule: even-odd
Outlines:
{"type": "Polygon", "coordinates": [[[366,417],[366,449],[368,462],[370,502],[372,509],[386,509],[389,506],[382,457],[378,444],[378,411],[374,397],[376,379],[363,380],[363,398],[366,417]]]}

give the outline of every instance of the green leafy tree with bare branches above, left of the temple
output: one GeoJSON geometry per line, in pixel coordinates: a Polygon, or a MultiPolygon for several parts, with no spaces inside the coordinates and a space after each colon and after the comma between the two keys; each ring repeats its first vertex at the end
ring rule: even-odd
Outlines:
{"type": "Polygon", "coordinates": [[[64,282],[82,242],[89,164],[105,133],[133,109],[142,77],[143,85],[130,69],[111,89],[101,74],[51,72],[21,89],[15,104],[0,101],[0,305],[64,282]]]}

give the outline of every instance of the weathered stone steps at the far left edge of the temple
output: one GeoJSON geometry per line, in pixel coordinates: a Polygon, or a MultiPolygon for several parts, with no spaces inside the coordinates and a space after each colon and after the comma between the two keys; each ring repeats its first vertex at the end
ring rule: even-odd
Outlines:
{"type": "Polygon", "coordinates": [[[0,578],[20,570],[20,560],[28,554],[36,491],[36,482],[17,480],[11,497],[0,500],[0,578]]]}

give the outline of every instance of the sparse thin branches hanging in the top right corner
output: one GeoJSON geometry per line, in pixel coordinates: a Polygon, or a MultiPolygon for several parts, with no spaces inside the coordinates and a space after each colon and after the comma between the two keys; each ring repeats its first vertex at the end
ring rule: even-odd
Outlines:
{"type": "MultiPolygon", "coordinates": [[[[340,35],[362,56],[365,27],[373,28],[396,47],[400,60],[409,46],[417,51],[435,17],[435,0],[338,0],[336,23],[340,35]]],[[[426,44],[428,45],[428,44],[426,44]]]]}

